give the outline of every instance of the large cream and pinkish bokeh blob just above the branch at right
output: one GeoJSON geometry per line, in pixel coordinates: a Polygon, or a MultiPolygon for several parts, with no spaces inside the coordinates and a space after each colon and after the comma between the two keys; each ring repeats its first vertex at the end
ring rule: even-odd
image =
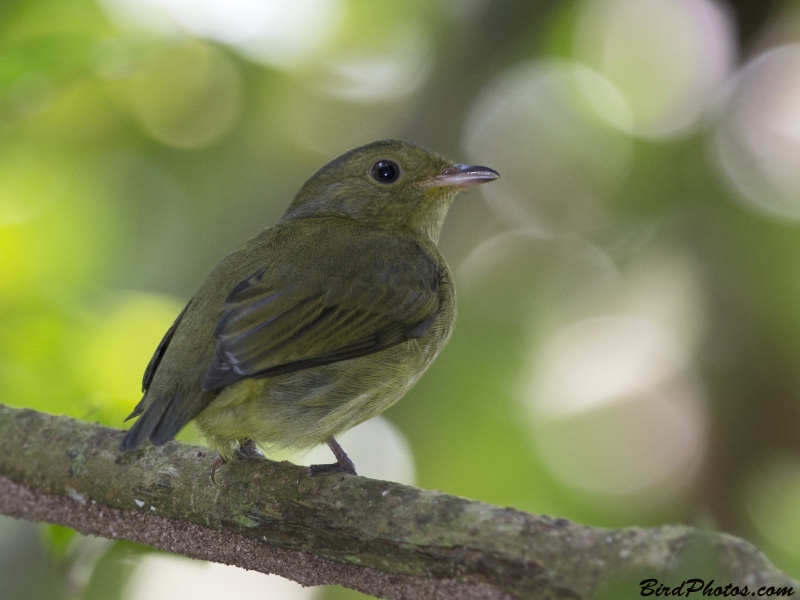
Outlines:
{"type": "Polygon", "coordinates": [[[533,362],[523,405],[557,479],[654,503],[691,482],[705,443],[703,392],[687,350],[657,323],[629,315],[579,321],[533,362]]]}

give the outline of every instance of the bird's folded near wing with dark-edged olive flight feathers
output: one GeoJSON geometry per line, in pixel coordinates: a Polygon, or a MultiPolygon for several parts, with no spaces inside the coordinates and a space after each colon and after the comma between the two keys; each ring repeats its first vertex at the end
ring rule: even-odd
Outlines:
{"type": "Polygon", "coordinates": [[[202,389],[357,358],[423,336],[439,310],[437,264],[411,241],[384,234],[356,242],[353,248],[336,247],[353,243],[347,239],[307,244],[234,287],[214,330],[216,353],[202,389]]]}

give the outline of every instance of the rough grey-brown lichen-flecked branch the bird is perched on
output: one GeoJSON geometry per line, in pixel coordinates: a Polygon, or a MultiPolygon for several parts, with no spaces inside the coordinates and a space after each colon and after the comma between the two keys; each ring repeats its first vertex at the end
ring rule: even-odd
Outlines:
{"type": "Polygon", "coordinates": [[[122,435],[0,405],[0,513],[392,599],[580,599],[619,585],[638,597],[648,577],[800,591],[724,534],[599,529],[349,475],[298,489],[300,467],[260,459],[213,485],[204,448],[120,455],[122,435]]]}

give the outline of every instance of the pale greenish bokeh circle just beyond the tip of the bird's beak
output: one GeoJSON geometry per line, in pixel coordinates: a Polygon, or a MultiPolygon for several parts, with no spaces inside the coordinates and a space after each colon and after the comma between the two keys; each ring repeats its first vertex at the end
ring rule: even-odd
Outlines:
{"type": "Polygon", "coordinates": [[[511,67],[467,116],[467,155],[503,178],[482,189],[515,227],[570,232],[603,222],[604,201],[625,181],[632,143],[627,105],[597,73],[569,61],[511,67]]]}

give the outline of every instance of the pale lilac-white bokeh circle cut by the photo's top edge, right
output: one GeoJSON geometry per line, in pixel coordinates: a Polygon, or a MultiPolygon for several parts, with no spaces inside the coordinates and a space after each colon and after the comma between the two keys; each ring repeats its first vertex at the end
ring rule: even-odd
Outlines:
{"type": "Polygon", "coordinates": [[[625,97],[630,133],[664,137],[695,125],[736,55],[728,12],[711,0],[588,0],[575,58],[625,97]]]}

